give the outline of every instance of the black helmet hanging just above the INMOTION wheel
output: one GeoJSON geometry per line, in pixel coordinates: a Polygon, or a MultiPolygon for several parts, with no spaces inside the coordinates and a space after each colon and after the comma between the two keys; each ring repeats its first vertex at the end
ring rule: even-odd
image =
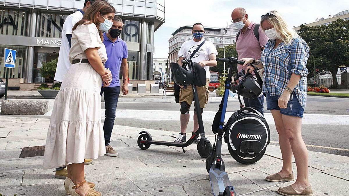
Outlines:
{"type": "Polygon", "coordinates": [[[248,99],[254,99],[263,95],[257,78],[250,74],[249,71],[245,74],[245,70],[241,70],[238,76],[242,77],[242,79],[239,85],[232,88],[233,92],[248,99]]]}

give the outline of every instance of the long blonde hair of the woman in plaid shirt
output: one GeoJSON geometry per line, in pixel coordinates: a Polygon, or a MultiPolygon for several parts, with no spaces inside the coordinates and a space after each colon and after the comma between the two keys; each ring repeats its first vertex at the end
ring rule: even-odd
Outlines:
{"type": "MultiPolygon", "coordinates": [[[[263,17],[260,24],[262,25],[262,22],[265,20],[268,21],[269,24],[274,26],[277,38],[285,44],[290,44],[292,38],[298,35],[297,32],[287,25],[285,19],[279,12],[273,10],[271,13],[272,14],[263,17]]],[[[264,31],[263,28],[262,30],[264,31]]]]}

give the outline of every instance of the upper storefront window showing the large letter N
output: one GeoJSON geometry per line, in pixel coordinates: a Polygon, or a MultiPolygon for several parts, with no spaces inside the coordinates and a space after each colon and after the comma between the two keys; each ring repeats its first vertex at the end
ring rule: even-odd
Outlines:
{"type": "Polygon", "coordinates": [[[61,38],[62,27],[66,16],[67,15],[42,12],[38,21],[38,37],[61,38]]]}

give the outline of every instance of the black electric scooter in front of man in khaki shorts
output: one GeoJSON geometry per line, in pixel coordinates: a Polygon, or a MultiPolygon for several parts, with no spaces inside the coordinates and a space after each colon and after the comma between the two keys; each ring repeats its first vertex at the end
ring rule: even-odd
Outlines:
{"type": "MultiPolygon", "coordinates": [[[[186,65],[188,65],[188,69],[187,69],[188,73],[194,72],[194,67],[193,67],[194,65],[193,65],[193,62],[191,61],[191,59],[185,59],[185,60],[182,60],[181,62],[183,63],[182,68],[184,68],[184,69],[186,69],[186,65]]],[[[177,65],[176,64],[177,63],[170,64],[172,75],[174,75],[173,71],[175,70],[172,66],[179,66],[178,64],[177,65]]],[[[194,73],[194,77],[195,77],[195,73],[194,73]]],[[[176,82],[176,81],[174,81],[174,82],[176,82]]],[[[199,136],[201,136],[200,142],[196,146],[196,150],[198,150],[198,152],[202,158],[207,158],[209,156],[209,154],[212,152],[213,147],[212,147],[212,144],[210,143],[210,141],[208,141],[205,137],[205,130],[203,127],[203,122],[202,122],[199,97],[198,97],[198,93],[196,90],[196,85],[194,83],[194,80],[188,81],[188,85],[190,85],[190,84],[193,87],[194,106],[195,106],[196,116],[198,117],[199,129],[196,130],[196,132],[192,132],[192,136],[185,143],[155,141],[151,137],[150,133],[148,133],[147,131],[141,131],[139,133],[141,135],[138,137],[138,140],[137,140],[137,144],[138,144],[140,149],[146,150],[150,147],[151,144],[165,145],[165,146],[177,146],[177,147],[181,147],[183,150],[183,153],[185,153],[184,148],[189,146],[190,144],[192,144],[199,136]]],[[[183,88],[186,88],[186,86],[184,86],[183,88]]]]}

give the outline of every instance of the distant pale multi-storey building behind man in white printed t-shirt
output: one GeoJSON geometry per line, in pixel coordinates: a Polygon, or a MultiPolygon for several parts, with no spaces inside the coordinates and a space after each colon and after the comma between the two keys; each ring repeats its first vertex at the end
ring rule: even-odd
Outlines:
{"type": "MultiPolygon", "coordinates": [[[[185,41],[193,39],[192,29],[193,25],[186,25],[172,33],[169,39],[170,62],[176,62],[180,46],[185,41]]],[[[227,28],[204,27],[204,30],[203,39],[212,42],[217,48],[223,47],[223,42],[224,45],[235,44],[235,38],[239,32],[233,24],[227,28]]]]}

